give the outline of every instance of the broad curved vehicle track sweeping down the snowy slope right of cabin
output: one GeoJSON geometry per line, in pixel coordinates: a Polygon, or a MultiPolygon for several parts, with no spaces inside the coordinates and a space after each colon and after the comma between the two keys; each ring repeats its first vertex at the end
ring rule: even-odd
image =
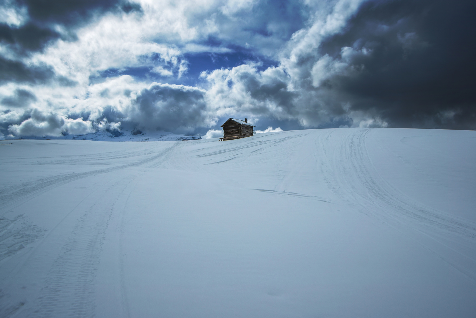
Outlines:
{"type": "Polygon", "coordinates": [[[417,241],[420,244],[425,241],[425,248],[476,279],[476,225],[426,207],[381,178],[367,153],[366,138],[370,130],[351,130],[340,140],[333,156],[337,185],[332,189],[340,199],[408,237],[415,238],[415,234],[426,237],[417,241]]]}

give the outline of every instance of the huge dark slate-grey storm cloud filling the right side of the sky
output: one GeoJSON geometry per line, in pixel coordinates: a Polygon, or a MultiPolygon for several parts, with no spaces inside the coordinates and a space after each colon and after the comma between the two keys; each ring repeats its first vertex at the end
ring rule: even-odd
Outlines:
{"type": "Polygon", "coordinates": [[[370,1],[321,53],[355,52],[351,75],[321,85],[390,127],[476,128],[476,2],[370,1]]]}

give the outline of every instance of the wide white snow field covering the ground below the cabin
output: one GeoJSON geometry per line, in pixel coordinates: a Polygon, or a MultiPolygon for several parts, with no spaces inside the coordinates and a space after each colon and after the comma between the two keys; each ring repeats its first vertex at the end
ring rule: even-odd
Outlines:
{"type": "Polygon", "coordinates": [[[0,317],[476,317],[476,132],[1,141],[0,317]]]}

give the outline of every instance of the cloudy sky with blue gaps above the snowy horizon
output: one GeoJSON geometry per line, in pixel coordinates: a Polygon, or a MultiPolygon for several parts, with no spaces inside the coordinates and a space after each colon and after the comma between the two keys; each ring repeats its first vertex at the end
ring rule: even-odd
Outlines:
{"type": "Polygon", "coordinates": [[[3,0],[0,138],[476,129],[476,2],[3,0]]]}

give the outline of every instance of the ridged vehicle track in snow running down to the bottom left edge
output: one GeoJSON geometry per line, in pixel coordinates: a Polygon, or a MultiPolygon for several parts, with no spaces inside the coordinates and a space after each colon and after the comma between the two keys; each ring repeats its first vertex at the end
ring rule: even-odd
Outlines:
{"type": "Polygon", "coordinates": [[[101,242],[109,219],[117,209],[115,202],[133,179],[125,177],[100,191],[115,191],[116,195],[98,195],[94,204],[79,218],[45,279],[36,310],[30,317],[94,316],[94,278],[99,265],[101,242]],[[104,197],[112,200],[102,201],[104,197]]]}

